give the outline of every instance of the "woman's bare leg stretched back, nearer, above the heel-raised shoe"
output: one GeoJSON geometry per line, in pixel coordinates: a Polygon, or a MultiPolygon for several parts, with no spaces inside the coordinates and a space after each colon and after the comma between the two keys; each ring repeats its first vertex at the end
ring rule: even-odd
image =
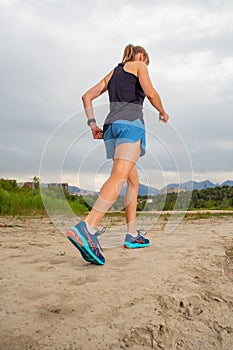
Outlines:
{"type": "Polygon", "coordinates": [[[111,175],[103,184],[97,201],[85,218],[87,224],[97,227],[106,211],[116,201],[139,158],[140,149],[140,141],[136,143],[124,143],[116,147],[111,175]]]}

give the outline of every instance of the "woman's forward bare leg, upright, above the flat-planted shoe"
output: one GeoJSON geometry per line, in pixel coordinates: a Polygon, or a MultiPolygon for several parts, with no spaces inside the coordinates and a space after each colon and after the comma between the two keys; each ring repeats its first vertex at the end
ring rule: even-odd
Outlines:
{"type": "Polygon", "coordinates": [[[127,232],[134,234],[136,233],[136,211],[139,186],[136,165],[131,169],[127,182],[128,186],[125,194],[127,232]]]}

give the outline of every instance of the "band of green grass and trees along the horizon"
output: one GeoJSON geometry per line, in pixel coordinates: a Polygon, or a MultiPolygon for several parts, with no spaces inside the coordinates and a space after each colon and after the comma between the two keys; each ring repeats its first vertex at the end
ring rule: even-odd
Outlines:
{"type": "MultiPolygon", "coordinates": [[[[46,209],[52,208],[56,214],[63,213],[64,203],[68,203],[76,214],[85,214],[92,208],[97,197],[76,197],[61,189],[43,189],[43,200],[39,189],[39,178],[34,177],[34,188],[19,188],[16,181],[0,179],[0,215],[46,215],[46,209]],[[47,191],[47,192],[46,192],[47,191]]],[[[228,209],[233,211],[233,187],[223,186],[194,190],[190,192],[168,193],[157,196],[139,196],[138,211],[228,209]],[[191,195],[191,199],[190,199],[191,195]],[[149,200],[148,200],[149,199],[149,200]]],[[[119,197],[111,208],[124,215],[124,197],[119,197]]],[[[114,215],[113,212],[111,215],[114,215]]],[[[118,215],[118,214],[117,214],[118,215]]],[[[196,217],[209,216],[198,213],[196,217]]]]}

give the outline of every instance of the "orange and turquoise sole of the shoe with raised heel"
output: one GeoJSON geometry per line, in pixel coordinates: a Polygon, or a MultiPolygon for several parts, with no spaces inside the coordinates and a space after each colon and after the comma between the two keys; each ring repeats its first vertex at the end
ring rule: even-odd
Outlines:
{"type": "Polygon", "coordinates": [[[76,227],[72,227],[66,232],[67,238],[71,243],[80,251],[84,260],[91,262],[96,265],[104,265],[104,262],[101,261],[90,249],[88,242],[79,232],[76,227]]]}

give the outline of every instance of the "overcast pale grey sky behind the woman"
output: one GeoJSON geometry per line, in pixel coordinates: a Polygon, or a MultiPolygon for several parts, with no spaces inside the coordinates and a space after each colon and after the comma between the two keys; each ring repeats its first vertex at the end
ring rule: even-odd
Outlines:
{"type": "MultiPolygon", "coordinates": [[[[233,180],[232,18],[232,0],[0,0],[0,177],[99,189],[111,162],[81,95],[132,43],[171,118],[145,102],[141,182],[233,180]]],[[[94,102],[99,125],[107,102],[94,102]]]]}

